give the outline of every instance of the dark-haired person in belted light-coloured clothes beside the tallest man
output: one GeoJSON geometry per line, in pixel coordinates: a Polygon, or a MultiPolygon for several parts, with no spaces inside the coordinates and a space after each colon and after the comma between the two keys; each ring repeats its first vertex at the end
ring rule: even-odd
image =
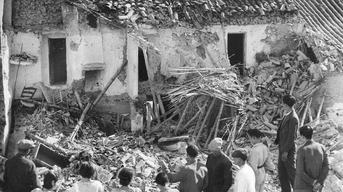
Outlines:
{"type": "Polygon", "coordinates": [[[255,172],[255,190],[263,192],[266,180],[265,169],[274,171],[275,166],[269,157],[269,148],[261,142],[263,133],[258,129],[249,129],[248,136],[252,145],[249,164],[255,172]]]}

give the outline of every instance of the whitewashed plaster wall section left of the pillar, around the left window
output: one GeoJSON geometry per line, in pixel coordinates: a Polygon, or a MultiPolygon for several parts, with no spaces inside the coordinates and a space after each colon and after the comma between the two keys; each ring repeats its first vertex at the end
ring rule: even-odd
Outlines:
{"type": "MultiPolygon", "coordinates": [[[[14,85],[16,73],[15,97],[19,97],[24,86],[34,86],[35,83],[43,81],[51,88],[70,87],[74,80],[84,78],[82,64],[100,62],[105,64],[105,70],[100,71],[99,85],[106,85],[111,76],[120,67],[123,59],[123,47],[125,37],[123,32],[112,30],[107,26],[101,26],[98,30],[81,29],[76,35],[68,35],[61,31],[50,31],[43,35],[31,32],[19,32],[9,37],[10,55],[19,54],[21,44],[23,52],[37,56],[38,62],[32,65],[10,65],[10,80],[14,85]],[[49,83],[49,62],[47,38],[66,38],[67,44],[67,84],[65,86],[54,86],[49,83]],[[75,39],[78,40],[75,43],[75,39]]],[[[115,80],[106,92],[107,95],[120,95],[126,93],[126,87],[122,82],[115,80]]],[[[37,92],[39,95],[40,93],[37,92]]]]}

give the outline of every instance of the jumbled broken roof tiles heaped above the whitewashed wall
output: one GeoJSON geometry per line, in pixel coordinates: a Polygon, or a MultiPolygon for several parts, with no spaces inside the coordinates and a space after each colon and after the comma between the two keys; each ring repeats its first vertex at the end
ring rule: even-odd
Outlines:
{"type": "MultiPolygon", "coordinates": [[[[99,1],[69,0],[73,5],[86,7],[95,15],[125,25],[140,23],[170,27],[192,24],[196,28],[214,23],[233,22],[244,16],[254,20],[265,15],[293,17],[297,12],[293,1],[99,1]],[[289,14],[289,15],[287,15],[289,14]]],[[[261,18],[259,18],[262,20],[261,18]]],[[[246,21],[245,21],[246,22],[246,21]]]]}

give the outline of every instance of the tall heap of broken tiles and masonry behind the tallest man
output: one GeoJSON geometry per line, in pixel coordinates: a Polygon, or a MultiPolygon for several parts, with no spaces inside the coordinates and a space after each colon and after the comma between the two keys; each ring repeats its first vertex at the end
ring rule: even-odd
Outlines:
{"type": "Polygon", "coordinates": [[[302,124],[307,120],[304,119],[307,116],[303,117],[306,113],[309,113],[309,121],[316,119],[312,117],[315,111],[309,112],[312,108],[309,101],[324,78],[316,65],[300,50],[290,51],[280,58],[269,57],[258,66],[251,67],[247,73],[248,77],[244,80],[249,94],[246,100],[247,127],[276,133],[283,117],[281,104],[285,94],[297,99],[295,109],[302,124]]]}

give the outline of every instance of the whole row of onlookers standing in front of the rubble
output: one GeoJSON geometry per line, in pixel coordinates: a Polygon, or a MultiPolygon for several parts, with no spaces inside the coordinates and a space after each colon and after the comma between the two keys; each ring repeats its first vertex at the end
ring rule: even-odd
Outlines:
{"type": "MultiPolygon", "coordinates": [[[[159,161],[162,171],[155,178],[161,192],[263,192],[266,171],[278,173],[282,192],[319,192],[329,172],[326,148],[313,141],[313,129],[305,125],[298,130],[299,120],[293,108],[295,98],[283,97],[283,109],[286,111],[279,129],[275,144],[279,146],[277,169],[270,158],[269,148],[263,144],[263,134],[258,129],[249,129],[247,135],[252,148],[233,151],[231,159],[222,152],[223,140],[214,138],[209,144],[210,154],[206,164],[198,159],[199,149],[190,144],[187,151],[187,164],[177,172],[171,172],[164,161],[159,161]],[[304,141],[296,152],[297,132],[304,141]],[[235,166],[237,172],[233,171],[235,166]],[[171,189],[168,183],[180,182],[178,189],[171,189]]],[[[35,146],[33,141],[21,140],[18,143],[18,154],[5,163],[4,181],[8,192],[42,192],[54,191],[58,176],[48,172],[44,176],[44,184],[40,186],[35,164],[26,158],[35,146]]],[[[91,179],[96,168],[90,161],[81,162],[79,174],[81,180],[76,182],[70,192],[103,192],[100,181],[91,179]]],[[[123,167],[117,177],[120,188],[112,192],[140,192],[141,189],[131,187],[135,171],[123,167]]]]}

